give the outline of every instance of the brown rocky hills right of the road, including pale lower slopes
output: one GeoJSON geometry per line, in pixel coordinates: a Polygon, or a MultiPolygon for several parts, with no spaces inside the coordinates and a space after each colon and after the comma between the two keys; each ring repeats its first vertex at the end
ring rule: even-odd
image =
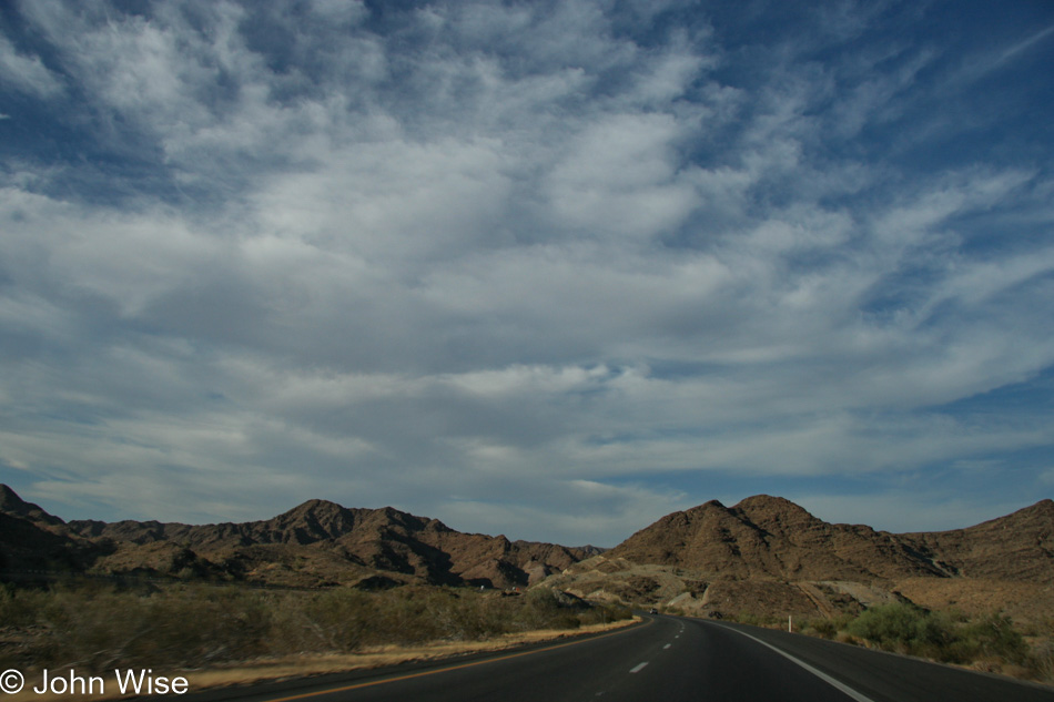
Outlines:
{"type": "Polygon", "coordinates": [[[1004,611],[1054,609],[1054,502],[967,529],[889,533],[832,525],[769,496],[673,512],[547,584],[587,599],[708,617],[832,617],[894,600],[1004,611]]]}

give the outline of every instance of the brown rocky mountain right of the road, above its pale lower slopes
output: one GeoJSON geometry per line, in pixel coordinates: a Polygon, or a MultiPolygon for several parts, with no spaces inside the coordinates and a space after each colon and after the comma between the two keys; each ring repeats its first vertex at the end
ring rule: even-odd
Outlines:
{"type": "Polygon", "coordinates": [[[607,556],[691,568],[720,579],[973,577],[1051,582],[1054,502],[954,531],[894,535],[832,525],[779,497],[713,500],[641,529],[607,556]]]}

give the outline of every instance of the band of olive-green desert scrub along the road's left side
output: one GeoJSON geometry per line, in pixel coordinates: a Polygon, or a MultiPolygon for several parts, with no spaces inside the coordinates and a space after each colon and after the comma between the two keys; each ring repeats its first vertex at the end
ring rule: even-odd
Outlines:
{"type": "Polygon", "coordinates": [[[0,667],[205,668],[268,655],[572,630],[630,617],[622,608],[568,604],[545,589],[501,597],[439,587],[381,592],[0,587],[0,667]]]}

